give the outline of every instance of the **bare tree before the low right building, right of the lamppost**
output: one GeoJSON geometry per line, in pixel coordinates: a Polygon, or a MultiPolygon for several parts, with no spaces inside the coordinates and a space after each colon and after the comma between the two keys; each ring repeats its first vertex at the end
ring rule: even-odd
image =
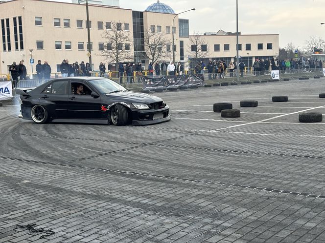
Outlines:
{"type": "Polygon", "coordinates": [[[198,32],[194,32],[193,35],[189,36],[188,49],[191,50],[189,54],[190,58],[195,60],[204,58],[209,53],[209,46],[205,38],[199,35],[198,32]],[[204,48],[203,50],[202,47],[204,48]]]}

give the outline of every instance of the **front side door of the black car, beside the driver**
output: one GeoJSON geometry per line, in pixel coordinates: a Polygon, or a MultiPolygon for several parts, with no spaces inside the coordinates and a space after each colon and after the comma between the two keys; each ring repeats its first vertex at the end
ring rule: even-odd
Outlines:
{"type": "Polygon", "coordinates": [[[101,101],[100,97],[94,98],[94,91],[85,81],[70,81],[70,94],[68,96],[68,112],[71,119],[100,119],[101,101]],[[85,94],[76,94],[77,85],[83,85],[85,94]]]}

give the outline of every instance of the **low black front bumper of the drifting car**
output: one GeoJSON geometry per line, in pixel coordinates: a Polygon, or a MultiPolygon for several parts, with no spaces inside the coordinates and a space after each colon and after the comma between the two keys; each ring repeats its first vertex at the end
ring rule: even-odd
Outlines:
{"type": "Polygon", "coordinates": [[[171,117],[169,115],[168,105],[158,110],[131,109],[131,113],[132,113],[132,125],[135,126],[157,124],[157,123],[171,120],[171,117]]]}

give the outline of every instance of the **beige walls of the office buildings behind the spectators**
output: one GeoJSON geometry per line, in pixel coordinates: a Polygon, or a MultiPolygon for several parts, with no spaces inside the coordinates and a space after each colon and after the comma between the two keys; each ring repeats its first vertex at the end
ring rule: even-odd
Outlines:
{"type": "MultiPolygon", "coordinates": [[[[44,0],[12,0],[1,2],[0,9],[0,20],[3,20],[3,26],[1,25],[2,22],[0,22],[2,34],[0,39],[0,74],[7,74],[8,66],[11,65],[13,61],[18,63],[20,60],[25,61],[24,64],[27,68],[27,72],[31,73],[31,65],[29,64],[31,55],[29,49],[33,50],[32,58],[35,64],[37,60],[41,60],[42,63],[47,60],[51,65],[53,73],[57,72],[57,65],[61,64],[63,59],[69,59],[70,63],[74,61],[78,61],[79,63],[81,61],[88,62],[86,6],[84,4],[44,0]],[[18,23],[19,17],[22,20],[21,35],[18,23]],[[16,28],[14,27],[15,19],[17,20],[16,28]],[[77,26],[77,24],[79,26],[77,26]],[[15,35],[16,30],[17,35],[15,35]],[[11,50],[8,50],[8,37],[10,37],[11,50]],[[21,37],[23,37],[23,40],[21,40],[21,37]],[[37,48],[40,47],[37,46],[37,43],[39,45],[42,43],[43,48],[37,48]],[[60,47],[60,43],[61,48],[58,48],[60,47]],[[80,49],[81,43],[83,43],[83,49],[80,49]],[[4,50],[4,47],[6,50],[4,50]]],[[[175,60],[184,60],[187,62],[188,56],[192,54],[190,39],[189,37],[179,36],[178,15],[157,12],[143,12],[142,14],[143,29],[150,30],[153,25],[155,26],[155,31],[167,32],[166,38],[170,42],[172,42],[172,25],[175,17],[175,60]],[[180,49],[181,41],[184,45],[182,51],[180,49]]],[[[129,52],[134,58],[134,18],[131,9],[90,4],[89,16],[91,20],[91,42],[93,43],[92,62],[95,70],[98,69],[100,62],[114,62],[112,60],[105,60],[105,58],[100,55],[100,44],[104,45],[104,48],[106,48],[108,42],[102,38],[106,22],[115,21],[127,25],[126,27],[128,30],[123,31],[130,34],[131,42],[129,52]]],[[[233,59],[236,55],[235,35],[204,35],[202,38],[205,40],[209,50],[205,58],[211,58],[212,60],[233,59]],[[215,51],[214,46],[218,44],[220,50],[215,51]],[[224,50],[224,44],[229,44],[229,51],[224,50]]],[[[239,51],[239,55],[242,57],[275,57],[279,50],[279,35],[240,35],[239,43],[242,44],[242,50],[239,51]],[[248,43],[251,44],[251,50],[246,50],[246,44],[248,43]],[[258,44],[263,44],[261,50],[258,50],[258,44]],[[272,44],[272,48],[268,49],[268,44],[272,44]]],[[[123,49],[125,49],[125,46],[123,46],[123,49]]],[[[171,61],[172,59],[172,51],[169,52],[167,57],[162,58],[162,60],[166,61],[171,61]]],[[[35,64],[33,66],[34,72],[35,64]]],[[[148,60],[143,62],[143,65],[147,68],[148,60]]]]}

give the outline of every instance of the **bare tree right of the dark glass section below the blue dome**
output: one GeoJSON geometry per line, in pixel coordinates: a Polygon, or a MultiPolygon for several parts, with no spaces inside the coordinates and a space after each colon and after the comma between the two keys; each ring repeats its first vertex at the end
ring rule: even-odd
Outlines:
{"type": "Polygon", "coordinates": [[[148,29],[144,31],[145,54],[153,63],[167,56],[167,53],[169,53],[169,51],[167,51],[168,45],[171,45],[171,41],[166,38],[164,32],[152,32],[148,29]]]}

